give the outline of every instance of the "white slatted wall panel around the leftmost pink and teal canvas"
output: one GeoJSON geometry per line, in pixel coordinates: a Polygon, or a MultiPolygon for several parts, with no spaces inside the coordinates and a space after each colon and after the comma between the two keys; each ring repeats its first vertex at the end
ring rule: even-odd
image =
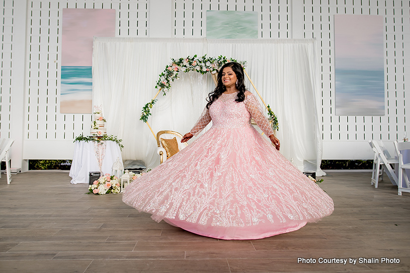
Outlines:
{"type": "MultiPolygon", "coordinates": [[[[90,114],[59,113],[61,20],[62,10],[66,8],[115,9],[116,37],[147,37],[149,34],[149,0],[29,1],[24,99],[25,159],[45,159],[38,152],[41,150],[49,150],[46,153],[48,159],[70,158],[72,154],[66,149],[71,146],[67,146],[67,142],[72,143],[81,133],[87,134],[91,126],[90,114]],[[61,149],[50,150],[47,143],[55,146],[60,143],[61,149]]],[[[5,107],[2,105],[2,108],[5,107]]],[[[7,132],[1,129],[2,134],[7,132]]]]}

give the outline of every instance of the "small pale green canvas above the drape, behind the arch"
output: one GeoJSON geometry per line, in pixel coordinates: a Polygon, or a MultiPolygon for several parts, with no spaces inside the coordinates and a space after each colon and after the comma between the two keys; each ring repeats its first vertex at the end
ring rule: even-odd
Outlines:
{"type": "Polygon", "coordinates": [[[206,11],[206,38],[257,39],[258,13],[206,11]]]}

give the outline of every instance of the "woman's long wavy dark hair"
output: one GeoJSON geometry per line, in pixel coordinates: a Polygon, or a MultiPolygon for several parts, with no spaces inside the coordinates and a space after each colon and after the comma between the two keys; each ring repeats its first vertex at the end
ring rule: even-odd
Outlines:
{"type": "Polygon", "coordinates": [[[217,77],[218,84],[216,85],[215,89],[211,93],[209,93],[208,99],[206,100],[208,102],[206,104],[207,109],[209,109],[211,104],[213,104],[213,102],[216,101],[222,95],[222,93],[226,91],[226,87],[222,83],[222,72],[223,72],[223,68],[228,67],[228,66],[232,68],[238,80],[238,83],[236,84],[236,88],[239,90],[239,92],[238,92],[238,96],[235,102],[240,103],[240,102],[243,102],[243,100],[245,99],[246,87],[244,83],[242,65],[240,65],[237,62],[227,62],[221,67],[221,69],[219,69],[218,77],[217,77]]]}

